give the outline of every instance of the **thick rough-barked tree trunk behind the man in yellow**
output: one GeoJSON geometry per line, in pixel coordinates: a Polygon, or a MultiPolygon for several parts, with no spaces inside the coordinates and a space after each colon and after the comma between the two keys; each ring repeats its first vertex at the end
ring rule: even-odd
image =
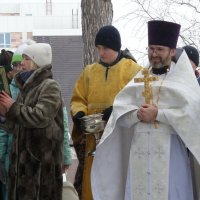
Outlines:
{"type": "Polygon", "coordinates": [[[113,19],[111,0],[81,0],[84,65],[98,60],[95,36],[100,27],[113,19]]]}

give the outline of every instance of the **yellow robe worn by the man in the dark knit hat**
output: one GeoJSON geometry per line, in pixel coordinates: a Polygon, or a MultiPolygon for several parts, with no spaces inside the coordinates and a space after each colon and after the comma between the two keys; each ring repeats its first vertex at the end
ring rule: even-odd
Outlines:
{"type": "MultiPolygon", "coordinates": [[[[115,96],[141,70],[141,66],[131,59],[122,58],[115,65],[107,68],[99,63],[88,65],[76,82],[72,99],[71,114],[83,111],[86,115],[101,113],[113,104],[115,96]]],[[[74,143],[83,138],[77,127],[73,128],[74,143]]],[[[93,135],[86,136],[86,154],[95,148],[93,135]]],[[[82,200],[92,200],[90,171],[93,157],[85,158],[82,182],[82,200]]]]}

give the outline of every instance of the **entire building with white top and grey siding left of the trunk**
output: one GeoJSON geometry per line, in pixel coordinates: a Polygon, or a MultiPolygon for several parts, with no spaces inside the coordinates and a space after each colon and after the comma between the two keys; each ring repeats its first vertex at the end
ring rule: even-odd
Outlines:
{"type": "MultiPolygon", "coordinates": [[[[15,51],[26,39],[52,46],[53,74],[69,104],[74,83],[83,68],[81,0],[1,0],[0,50],[15,51]]],[[[73,181],[77,160],[69,171],[73,181]]]]}

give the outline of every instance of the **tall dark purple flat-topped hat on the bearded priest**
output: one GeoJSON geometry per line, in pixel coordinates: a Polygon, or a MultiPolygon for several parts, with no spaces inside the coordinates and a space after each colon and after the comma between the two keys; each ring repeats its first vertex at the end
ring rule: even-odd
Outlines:
{"type": "Polygon", "coordinates": [[[167,21],[152,20],[148,22],[148,45],[161,45],[176,48],[179,24],[167,21]]]}

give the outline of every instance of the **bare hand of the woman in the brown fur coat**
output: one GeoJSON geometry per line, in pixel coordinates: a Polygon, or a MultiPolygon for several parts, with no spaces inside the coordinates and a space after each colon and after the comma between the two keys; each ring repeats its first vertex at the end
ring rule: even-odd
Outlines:
{"type": "Polygon", "coordinates": [[[0,105],[5,108],[4,113],[3,110],[0,110],[1,115],[5,116],[6,112],[9,111],[10,107],[15,101],[4,91],[0,93],[0,105]]]}

